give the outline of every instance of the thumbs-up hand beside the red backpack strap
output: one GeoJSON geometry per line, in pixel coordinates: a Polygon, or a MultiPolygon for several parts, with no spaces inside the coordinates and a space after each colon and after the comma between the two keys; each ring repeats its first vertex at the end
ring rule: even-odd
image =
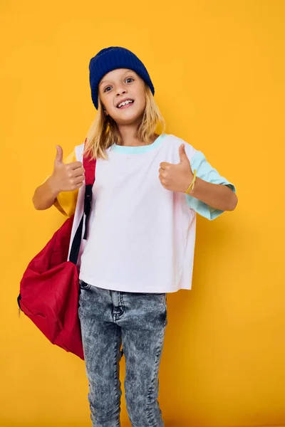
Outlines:
{"type": "Polygon", "coordinates": [[[51,182],[53,189],[61,191],[73,191],[83,186],[84,168],[81,162],[63,163],[63,149],[56,145],[56,159],[54,161],[51,182]]]}

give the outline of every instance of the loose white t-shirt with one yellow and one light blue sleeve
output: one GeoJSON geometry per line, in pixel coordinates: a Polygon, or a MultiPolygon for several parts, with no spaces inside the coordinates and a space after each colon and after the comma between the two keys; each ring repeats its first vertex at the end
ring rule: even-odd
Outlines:
{"type": "MultiPolygon", "coordinates": [[[[192,288],[196,215],[213,220],[223,211],[162,186],[160,163],[180,163],[181,144],[185,144],[192,171],[197,169],[199,178],[236,191],[202,152],[175,135],[164,133],[152,144],[140,147],[113,144],[107,149],[108,159],[96,162],[81,280],[125,292],[192,288]]],[[[77,146],[65,162],[82,162],[83,146],[77,146]]],[[[71,216],[78,209],[77,201],[78,190],[62,191],[55,206],[71,216]]]]}

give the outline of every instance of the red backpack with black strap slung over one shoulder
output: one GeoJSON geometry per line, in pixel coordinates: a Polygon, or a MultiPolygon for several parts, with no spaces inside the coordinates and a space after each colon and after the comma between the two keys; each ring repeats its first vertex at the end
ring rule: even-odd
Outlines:
{"type": "Polygon", "coordinates": [[[20,310],[43,334],[67,352],[84,359],[81,327],[78,317],[79,271],[76,265],[81,246],[83,221],[85,233],[91,210],[92,187],[95,181],[95,160],[83,157],[85,169],[84,213],[71,242],[74,214],[68,218],[51,240],[28,264],[20,283],[17,298],[20,310]]]}

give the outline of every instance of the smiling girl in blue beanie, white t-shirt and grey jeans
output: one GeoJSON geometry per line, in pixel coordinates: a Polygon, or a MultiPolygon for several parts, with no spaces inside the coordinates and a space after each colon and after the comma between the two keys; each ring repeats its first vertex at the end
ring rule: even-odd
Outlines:
{"type": "MultiPolygon", "coordinates": [[[[157,396],[167,292],[191,289],[196,214],[217,218],[234,210],[237,196],[202,152],[165,133],[152,80],[134,53],[105,48],[89,70],[98,113],[85,149],[97,162],[78,315],[91,419],[93,427],[120,426],[125,354],[132,426],[162,427],[157,396]]],[[[57,146],[53,174],[33,196],[36,209],[55,205],[66,216],[75,213],[75,223],[81,217],[83,149],[78,145],[63,162],[57,146]]]]}

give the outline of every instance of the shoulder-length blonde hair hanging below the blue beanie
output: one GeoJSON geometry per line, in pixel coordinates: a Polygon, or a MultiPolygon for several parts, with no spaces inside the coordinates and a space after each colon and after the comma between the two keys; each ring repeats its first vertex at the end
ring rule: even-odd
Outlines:
{"type": "MultiPolygon", "coordinates": [[[[147,83],[145,83],[145,100],[145,111],[135,132],[135,137],[145,144],[149,144],[157,125],[161,125],[162,133],[165,132],[165,119],[162,117],[147,83]]],[[[113,144],[122,145],[122,143],[118,125],[110,115],[104,114],[103,104],[98,95],[98,112],[88,130],[84,153],[90,155],[92,159],[108,159],[105,149],[113,144]]]]}

